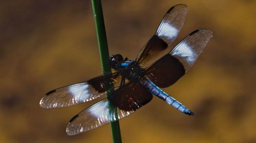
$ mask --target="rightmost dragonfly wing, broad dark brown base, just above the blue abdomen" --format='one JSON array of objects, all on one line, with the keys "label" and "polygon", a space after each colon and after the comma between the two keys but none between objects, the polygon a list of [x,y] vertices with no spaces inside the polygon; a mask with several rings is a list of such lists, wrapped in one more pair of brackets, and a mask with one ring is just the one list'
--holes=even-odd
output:
[{"label": "rightmost dragonfly wing, broad dark brown base, just above the blue abdomen", "polygon": [[194,65],[211,37],[210,30],[194,31],[172,51],[147,68],[146,76],[160,88],[169,87]]}]

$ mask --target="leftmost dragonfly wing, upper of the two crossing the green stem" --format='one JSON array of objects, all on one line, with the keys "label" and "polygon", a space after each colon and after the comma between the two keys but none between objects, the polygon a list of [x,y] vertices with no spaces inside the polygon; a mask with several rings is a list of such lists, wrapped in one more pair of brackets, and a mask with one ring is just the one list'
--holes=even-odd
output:
[{"label": "leftmost dragonfly wing, upper of the two crossing the green stem", "polygon": [[106,86],[106,81],[112,83],[114,87],[118,87],[121,75],[118,73],[101,75],[85,82],[52,90],[42,97],[39,104],[42,108],[55,108],[91,101],[105,95],[105,92],[111,89]]}]

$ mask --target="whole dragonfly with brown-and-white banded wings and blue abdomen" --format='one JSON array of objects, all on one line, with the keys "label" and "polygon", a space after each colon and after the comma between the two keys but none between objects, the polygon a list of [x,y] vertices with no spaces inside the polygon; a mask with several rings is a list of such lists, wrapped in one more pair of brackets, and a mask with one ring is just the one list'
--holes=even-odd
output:
[{"label": "whole dragonfly with brown-and-white banded wings and blue abdomen", "polygon": [[110,96],[82,110],[68,123],[68,135],[76,135],[115,122],[159,97],[177,110],[194,115],[162,88],[174,84],[195,64],[212,37],[212,32],[199,29],[172,47],[184,24],[187,6],[179,4],[164,15],[156,33],[140,50],[135,60],[121,54],[109,59],[112,73],[68,85],[48,92],[40,100],[42,108],[76,105],[94,100],[113,91]]}]

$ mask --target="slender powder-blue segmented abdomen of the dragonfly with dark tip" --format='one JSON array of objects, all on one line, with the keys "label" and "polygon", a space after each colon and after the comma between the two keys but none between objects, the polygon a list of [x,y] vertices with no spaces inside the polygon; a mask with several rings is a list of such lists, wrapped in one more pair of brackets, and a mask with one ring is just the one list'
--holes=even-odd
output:
[{"label": "slender powder-blue segmented abdomen of the dragonfly with dark tip", "polygon": [[169,105],[172,105],[177,110],[184,112],[187,115],[194,115],[194,112],[190,111],[187,107],[182,105],[179,101],[174,99],[173,97],[166,94],[163,90],[158,88],[150,79],[144,78],[140,80],[141,84],[144,85],[145,88],[148,89],[153,95],[159,97],[163,101],[167,102]]}]

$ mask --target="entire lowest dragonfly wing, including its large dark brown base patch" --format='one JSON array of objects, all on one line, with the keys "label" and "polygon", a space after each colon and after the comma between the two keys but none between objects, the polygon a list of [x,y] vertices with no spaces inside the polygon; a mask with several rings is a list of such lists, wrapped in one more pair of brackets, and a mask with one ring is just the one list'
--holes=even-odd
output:
[{"label": "entire lowest dragonfly wing, including its large dark brown base patch", "polygon": [[115,122],[129,116],[152,98],[152,94],[140,83],[129,82],[110,98],[105,98],[74,116],[67,126],[67,134],[75,135]]}]

